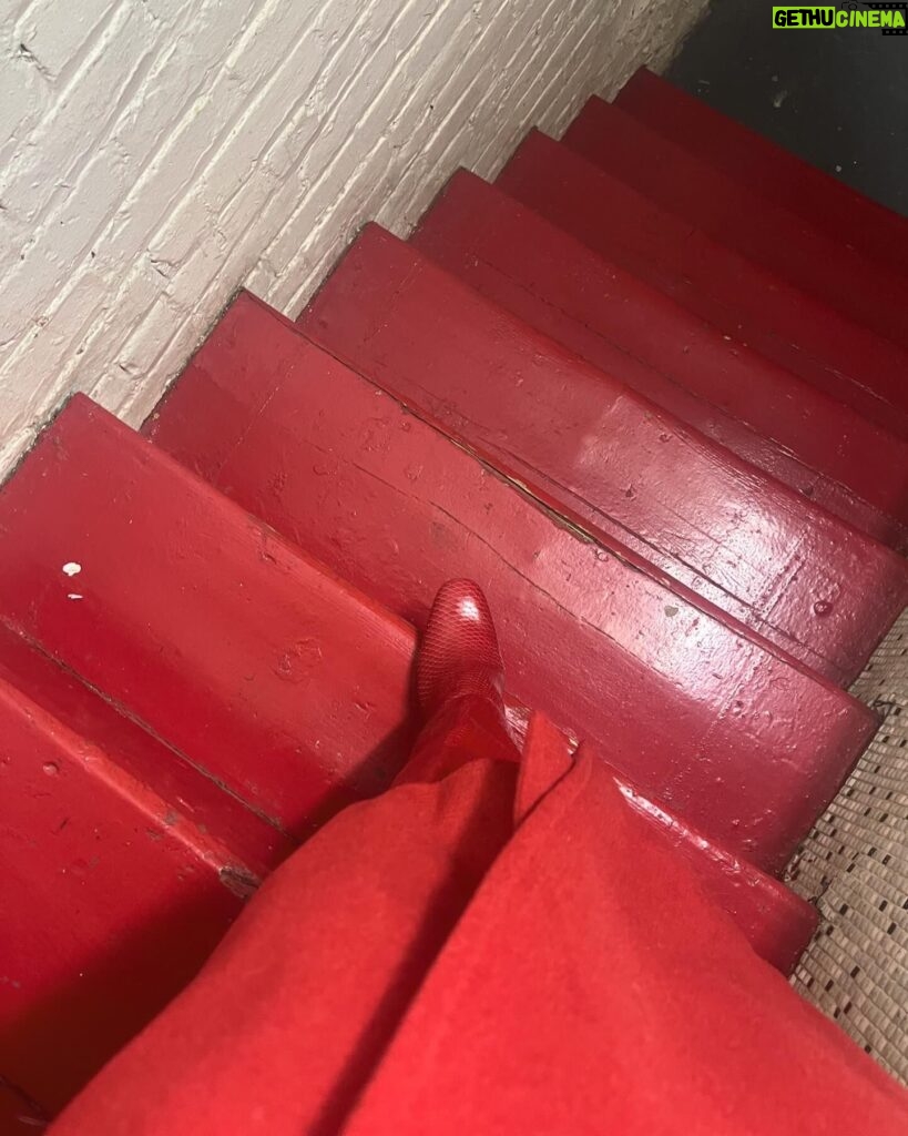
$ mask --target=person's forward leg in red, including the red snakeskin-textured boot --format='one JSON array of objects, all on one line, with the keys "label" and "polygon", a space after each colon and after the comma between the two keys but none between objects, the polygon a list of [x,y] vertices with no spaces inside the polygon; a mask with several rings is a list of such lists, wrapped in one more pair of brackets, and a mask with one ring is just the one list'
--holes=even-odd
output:
[{"label": "person's forward leg in red, including the red snakeskin-textured boot", "polygon": [[343,810],[266,880],[54,1136],[340,1130],[514,828],[519,754],[474,584],[439,593],[417,674],[426,727],[395,786]]}]

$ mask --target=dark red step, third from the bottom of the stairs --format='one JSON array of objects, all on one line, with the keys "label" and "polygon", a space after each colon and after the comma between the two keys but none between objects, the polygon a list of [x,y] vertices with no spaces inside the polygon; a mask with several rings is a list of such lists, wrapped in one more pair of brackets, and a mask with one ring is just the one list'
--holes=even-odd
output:
[{"label": "dark red step, third from the bottom of the stairs", "polygon": [[908,437],[908,352],[714,241],[569,147],[531,131],[496,179],[622,268],[732,339]]}]

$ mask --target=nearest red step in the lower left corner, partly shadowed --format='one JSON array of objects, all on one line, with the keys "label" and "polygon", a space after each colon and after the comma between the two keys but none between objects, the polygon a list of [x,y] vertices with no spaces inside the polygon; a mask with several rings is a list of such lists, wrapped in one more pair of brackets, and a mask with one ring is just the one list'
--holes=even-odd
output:
[{"label": "nearest red step in the lower left corner, partly shadowed", "polygon": [[56,1112],[291,845],[6,628],[0,730],[0,1072]]}]

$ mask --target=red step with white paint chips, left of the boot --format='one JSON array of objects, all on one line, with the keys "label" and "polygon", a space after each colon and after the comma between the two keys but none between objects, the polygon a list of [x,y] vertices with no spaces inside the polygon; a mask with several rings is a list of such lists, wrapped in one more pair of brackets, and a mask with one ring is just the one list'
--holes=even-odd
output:
[{"label": "red step with white paint chips, left of the boot", "polygon": [[294,836],[409,750],[413,629],[86,399],[0,493],[0,593],[14,626]]}]

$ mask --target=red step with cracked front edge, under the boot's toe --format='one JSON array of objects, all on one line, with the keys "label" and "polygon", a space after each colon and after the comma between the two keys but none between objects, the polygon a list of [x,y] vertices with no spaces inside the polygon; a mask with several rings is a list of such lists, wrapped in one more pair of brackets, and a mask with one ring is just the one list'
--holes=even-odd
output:
[{"label": "red step with cracked front edge, under the boot's toe", "polygon": [[513,470],[496,474],[421,417],[242,295],[150,429],[407,619],[424,618],[443,580],[476,578],[516,699],[712,838],[781,868],[872,734],[867,709],[669,591],[633,553],[591,542],[575,515],[540,508]]}]

